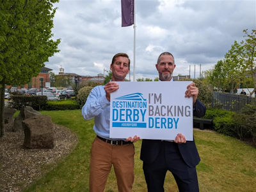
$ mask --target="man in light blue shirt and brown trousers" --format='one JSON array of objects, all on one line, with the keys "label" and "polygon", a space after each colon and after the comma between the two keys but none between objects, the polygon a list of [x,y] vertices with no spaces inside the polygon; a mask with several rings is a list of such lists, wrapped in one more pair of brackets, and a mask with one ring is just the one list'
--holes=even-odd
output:
[{"label": "man in light blue shirt and brown trousers", "polygon": [[124,81],[129,73],[130,59],[127,54],[114,55],[110,69],[111,82],[94,87],[88,96],[82,114],[84,119],[94,117],[93,130],[97,137],[92,144],[90,160],[90,191],[104,191],[108,174],[115,168],[118,191],[132,191],[134,181],[134,145],[140,137],[109,138],[110,93],[118,89],[116,81]]}]

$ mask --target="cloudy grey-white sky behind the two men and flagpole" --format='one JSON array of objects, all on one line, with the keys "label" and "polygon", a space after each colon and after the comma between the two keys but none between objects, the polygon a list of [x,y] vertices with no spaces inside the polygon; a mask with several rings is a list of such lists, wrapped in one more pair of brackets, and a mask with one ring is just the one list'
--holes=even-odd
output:
[{"label": "cloudy grey-white sky behind the two men and flagpole", "polygon": [[[121,0],[60,0],[54,17],[54,39],[60,52],[46,63],[58,74],[97,75],[109,70],[113,55],[131,58],[133,79],[134,29],[121,27]],[[135,0],[136,77],[157,77],[161,52],[172,52],[173,75],[199,76],[223,59],[243,29],[256,29],[256,1]],[[106,71],[105,71],[106,75]],[[129,77],[128,77],[129,78]]]}]

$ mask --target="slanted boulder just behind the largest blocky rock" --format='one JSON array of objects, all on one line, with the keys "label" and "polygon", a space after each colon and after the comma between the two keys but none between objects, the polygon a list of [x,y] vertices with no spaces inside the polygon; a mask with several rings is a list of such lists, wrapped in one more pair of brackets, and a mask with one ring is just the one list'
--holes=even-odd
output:
[{"label": "slanted boulder just behind the largest blocky rock", "polygon": [[41,115],[38,111],[34,110],[32,107],[23,107],[20,109],[20,114],[14,119],[13,131],[22,130],[22,121],[33,117],[35,115]]}]

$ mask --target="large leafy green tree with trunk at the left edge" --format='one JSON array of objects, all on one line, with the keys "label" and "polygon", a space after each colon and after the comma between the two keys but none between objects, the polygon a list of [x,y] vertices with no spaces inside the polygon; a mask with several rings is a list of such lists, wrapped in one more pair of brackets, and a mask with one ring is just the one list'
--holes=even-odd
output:
[{"label": "large leafy green tree with trunk at the left edge", "polygon": [[51,29],[58,0],[0,3],[0,137],[4,135],[4,85],[26,84],[55,52],[60,40]]}]

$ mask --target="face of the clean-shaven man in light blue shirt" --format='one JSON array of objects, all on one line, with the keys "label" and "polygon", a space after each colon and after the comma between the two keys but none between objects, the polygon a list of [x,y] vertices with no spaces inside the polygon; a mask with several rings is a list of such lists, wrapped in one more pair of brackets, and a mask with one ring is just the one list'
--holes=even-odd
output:
[{"label": "face of the clean-shaven man in light blue shirt", "polygon": [[127,57],[116,57],[115,62],[110,65],[113,81],[123,81],[129,73],[129,60]]}]

